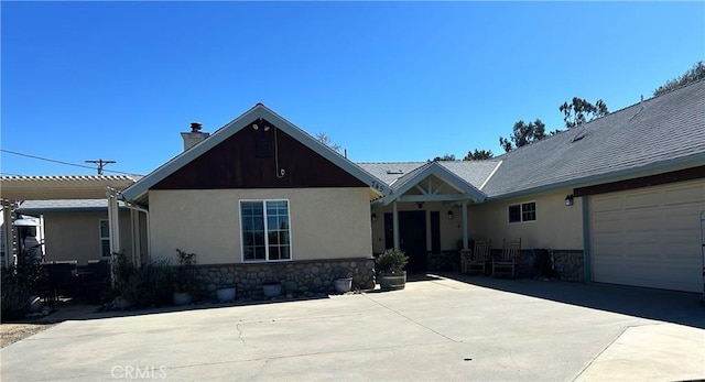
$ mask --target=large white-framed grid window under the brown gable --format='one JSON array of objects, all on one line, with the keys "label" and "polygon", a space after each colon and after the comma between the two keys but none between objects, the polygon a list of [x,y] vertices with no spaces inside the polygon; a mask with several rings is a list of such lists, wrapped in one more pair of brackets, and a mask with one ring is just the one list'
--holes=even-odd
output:
[{"label": "large white-framed grid window under the brown gable", "polygon": [[291,260],[289,200],[240,201],[242,259]]}]

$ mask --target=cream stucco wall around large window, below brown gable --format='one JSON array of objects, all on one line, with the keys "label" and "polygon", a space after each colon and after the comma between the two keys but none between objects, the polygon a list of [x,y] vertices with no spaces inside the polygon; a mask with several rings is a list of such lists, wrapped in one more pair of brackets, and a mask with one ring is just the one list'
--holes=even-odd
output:
[{"label": "cream stucco wall around large window, below brown gable", "polygon": [[151,257],[242,262],[239,201],[289,199],[292,260],[371,257],[369,188],[150,190]]}]

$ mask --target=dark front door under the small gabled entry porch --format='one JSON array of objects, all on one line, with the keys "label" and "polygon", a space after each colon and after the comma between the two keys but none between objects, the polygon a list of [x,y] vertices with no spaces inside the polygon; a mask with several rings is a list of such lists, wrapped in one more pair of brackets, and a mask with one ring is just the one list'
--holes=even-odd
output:
[{"label": "dark front door under the small gabled entry porch", "polygon": [[[392,214],[384,214],[386,244],[393,248]],[[426,211],[399,211],[399,247],[409,257],[406,271],[426,272]]]}]

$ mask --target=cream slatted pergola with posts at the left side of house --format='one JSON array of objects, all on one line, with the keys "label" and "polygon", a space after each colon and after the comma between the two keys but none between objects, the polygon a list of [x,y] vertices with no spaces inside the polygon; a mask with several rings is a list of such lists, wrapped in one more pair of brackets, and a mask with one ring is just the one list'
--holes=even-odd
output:
[{"label": "cream slatted pergola with posts at the left side of house", "polygon": [[137,182],[134,178],[123,175],[0,177],[0,199],[2,201],[6,229],[6,253],[10,257],[17,252],[15,244],[11,240],[13,237],[12,211],[18,207],[19,203],[23,200],[54,199],[107,199],[110,251],[119,252],[118,194],[134,182]]}]

